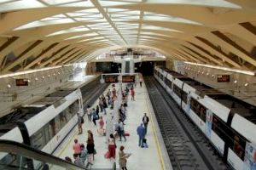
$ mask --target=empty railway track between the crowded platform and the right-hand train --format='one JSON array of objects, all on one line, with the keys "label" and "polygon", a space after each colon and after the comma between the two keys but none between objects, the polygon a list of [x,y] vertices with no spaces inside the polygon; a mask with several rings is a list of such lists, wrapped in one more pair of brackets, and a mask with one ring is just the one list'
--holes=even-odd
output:
[{"label": "empty railway track between the crowded platform and the right-hand train", "polygon": [[154,77],[144,77],[174,170],[228,170],[201,131]]}]

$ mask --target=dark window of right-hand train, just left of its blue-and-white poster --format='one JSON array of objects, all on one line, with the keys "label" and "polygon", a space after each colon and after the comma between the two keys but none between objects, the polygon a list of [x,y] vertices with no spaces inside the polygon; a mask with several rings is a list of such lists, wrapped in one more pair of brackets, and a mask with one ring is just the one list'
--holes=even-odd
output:
[{"label": "dark window of right-hand train, just left of its blue-and-white poster", "polygon": [[200,116],[202,121],[206,122],[207,108],[205,106],[201,105],[196,99],[191,98],[190,108],[197,116]]}]

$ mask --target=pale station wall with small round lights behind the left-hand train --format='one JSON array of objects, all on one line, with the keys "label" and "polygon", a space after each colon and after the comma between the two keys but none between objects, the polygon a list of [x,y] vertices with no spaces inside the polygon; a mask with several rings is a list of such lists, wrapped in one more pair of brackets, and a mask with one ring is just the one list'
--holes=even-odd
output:
[{"label": "pale station wall with small round lights behind the left-hand train", "polygon": [[[0,78],[0,117],[14,111],[19,105],[26,105],[43,98],[67,83],[73,67],[61,67],[16,77]],[[29,80],[28,86],[16,86],[16,79]]]}]

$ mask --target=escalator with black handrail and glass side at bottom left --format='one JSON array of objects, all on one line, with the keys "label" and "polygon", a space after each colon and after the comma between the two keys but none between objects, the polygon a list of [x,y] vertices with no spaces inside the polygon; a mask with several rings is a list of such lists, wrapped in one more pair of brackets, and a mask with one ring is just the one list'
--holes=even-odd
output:
[{"label": "escalator with black handrail and glass side at bottom left", "polygon": [[[9,140],[0,140],[1,170],[85,170],[73,162],[62,160],[26,144]],[[93,168],[89,168],[93,169]],[[115,169],[115,164],[111,168]]]}]

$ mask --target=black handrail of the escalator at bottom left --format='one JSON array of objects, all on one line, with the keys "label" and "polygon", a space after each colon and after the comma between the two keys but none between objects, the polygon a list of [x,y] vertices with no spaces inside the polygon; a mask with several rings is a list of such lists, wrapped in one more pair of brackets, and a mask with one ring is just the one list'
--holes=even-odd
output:
[{"label": "black handrail of the escalator at bottom left", "polygon": [[45,153],[41,150],[36,150],[26,144],[20,144],[18,142],[10,140],[0,139],[0,152],[14,153],[20,156],[26,156],[37,161],[46,162],[60,167],[66,167],[67,169],[86,169],[85,167],[80,167],[72,162],[65,161],[56,156],[49,155],[48,153]]}]

